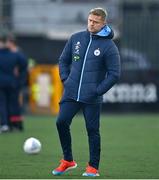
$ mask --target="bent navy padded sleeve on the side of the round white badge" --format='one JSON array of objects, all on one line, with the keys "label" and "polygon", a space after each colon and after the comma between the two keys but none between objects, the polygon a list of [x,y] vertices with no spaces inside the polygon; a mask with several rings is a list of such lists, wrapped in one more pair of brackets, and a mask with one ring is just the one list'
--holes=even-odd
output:
[{"label": "bent navy padded sleeve on the side of the round white badge", "polygon": [[107,73],[105,79],[97,87],[98,95],[106,93],[120,78],[120,55],[114,43],[111,48],[106,51],[105,65]]}]

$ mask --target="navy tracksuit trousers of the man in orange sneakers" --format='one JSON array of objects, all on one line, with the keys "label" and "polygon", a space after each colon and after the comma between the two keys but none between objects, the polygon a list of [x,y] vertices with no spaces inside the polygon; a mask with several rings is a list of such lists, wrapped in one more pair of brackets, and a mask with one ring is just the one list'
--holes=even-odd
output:
[{"label": "navy tracksuit trousers of the man in orange sneakers", "polygon": [[81,109],[85,118],[85,124],[89,142],[89,165],[98,169],[100,160],[100,108],[101,104],[86,104],[74,100],[60,103],[60,112],[57,118],[57,129],[64,154],[67,161],[73,160],[70,125],[75,114]]}]

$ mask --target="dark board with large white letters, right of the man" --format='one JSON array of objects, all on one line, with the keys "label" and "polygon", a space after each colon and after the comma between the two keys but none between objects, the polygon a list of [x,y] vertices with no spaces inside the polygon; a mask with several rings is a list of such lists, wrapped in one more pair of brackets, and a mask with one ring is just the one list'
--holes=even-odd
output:
[{"label": "dark board with large white letters, right of the man", "polygon": [[159,71],[122,71],[121,79],[103,96],[108,112],[159,112]]}]

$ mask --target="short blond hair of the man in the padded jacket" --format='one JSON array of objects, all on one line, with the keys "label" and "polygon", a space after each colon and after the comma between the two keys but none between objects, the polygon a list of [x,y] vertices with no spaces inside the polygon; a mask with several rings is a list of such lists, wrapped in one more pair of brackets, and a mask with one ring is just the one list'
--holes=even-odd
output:
[{"label": "short blond hair of the man in the padded jacket", "polygon": [[90,14],[93,14],[93,15],[96,15],[96,16],[101,16],[104,21],[106,20],[106,18],[108,16],[107,11],[105,9],[101,8],[101,7],[91,9],[90,12],[89,12],[89,15]]}]

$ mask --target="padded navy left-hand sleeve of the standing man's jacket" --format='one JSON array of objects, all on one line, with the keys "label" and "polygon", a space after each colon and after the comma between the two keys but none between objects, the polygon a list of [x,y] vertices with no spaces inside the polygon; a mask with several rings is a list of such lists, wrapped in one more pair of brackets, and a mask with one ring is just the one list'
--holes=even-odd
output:
[{"label": "padded navy left-hand sleeve of the standing man's jacket", "polygon": [[72,63],[72,37],[66,43],[63,52],[59,58],[59,71],[62,82],[64,82],[69,76],[71,63]]}]

